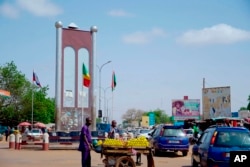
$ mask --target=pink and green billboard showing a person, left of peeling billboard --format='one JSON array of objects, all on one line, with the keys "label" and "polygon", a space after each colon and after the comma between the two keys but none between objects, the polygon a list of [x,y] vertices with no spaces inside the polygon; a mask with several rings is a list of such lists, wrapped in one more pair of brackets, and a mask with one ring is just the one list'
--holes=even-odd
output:
[{"label": "pink and green billboard showing a person, left of peeling billboard", "polygon": [[174,120],[200,119],[200,99],[172,100]]}]

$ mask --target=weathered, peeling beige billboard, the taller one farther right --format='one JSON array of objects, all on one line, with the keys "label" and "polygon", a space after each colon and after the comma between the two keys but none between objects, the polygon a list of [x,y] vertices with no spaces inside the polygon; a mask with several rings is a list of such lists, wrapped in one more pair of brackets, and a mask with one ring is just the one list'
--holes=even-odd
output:
[{"label": "weathered, peeling beige billboard, the taller one farther right", "polygon": [[230,87],[203,88],[203,118],[232,117]]}]

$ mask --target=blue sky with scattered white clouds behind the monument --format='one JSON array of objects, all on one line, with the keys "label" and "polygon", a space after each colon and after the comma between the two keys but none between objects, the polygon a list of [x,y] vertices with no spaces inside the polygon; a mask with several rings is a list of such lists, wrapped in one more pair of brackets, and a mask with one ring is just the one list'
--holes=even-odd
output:
[{"label": "blue sky with scattered white clouds behind the monument", "polygon": [[202,99],[203,78],[208,88],[230,86],[231,111],[248,104],[248,0],[0,0],[0,21],[0,65],[14,61],[28,79],[35,69],[50,97],[55,97],[55,23],[75,23],[86,31],[97,26],[96,65],[111,61],[101,72],[107,90],[102,104],[111,108],[113,102],[118,121],[128,109],[171,115],[172,99]]}]

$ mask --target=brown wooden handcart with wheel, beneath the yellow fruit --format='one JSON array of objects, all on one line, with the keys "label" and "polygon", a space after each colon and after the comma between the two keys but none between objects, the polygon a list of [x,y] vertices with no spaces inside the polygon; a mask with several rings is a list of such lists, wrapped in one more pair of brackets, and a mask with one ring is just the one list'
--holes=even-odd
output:
[{"label": "brown wooden handcart with wheel, beneath the yellow fruit", "polygon": [[151,148],[149,147],[121,147],[102,146],[101,157],[105,167],[135,167],[132,156],[147,156],[147,166],[155,167]]}]

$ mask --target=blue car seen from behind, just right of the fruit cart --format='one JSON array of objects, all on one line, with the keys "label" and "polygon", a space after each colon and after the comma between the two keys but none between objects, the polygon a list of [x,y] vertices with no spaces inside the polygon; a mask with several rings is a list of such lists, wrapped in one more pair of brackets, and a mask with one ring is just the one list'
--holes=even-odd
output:
[{"label": "blue car seen from behind, just right of the fruit cart", "polygon": [[155,156],[168,151],[180,151],[187,156],[189,151],[189,139],[181,126],[159,125],[152,132],[149,142]]}]

